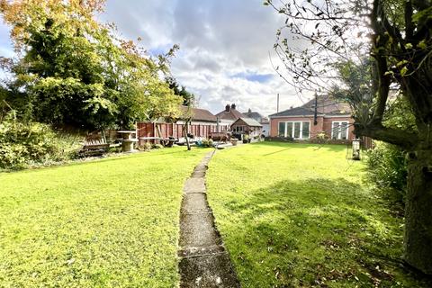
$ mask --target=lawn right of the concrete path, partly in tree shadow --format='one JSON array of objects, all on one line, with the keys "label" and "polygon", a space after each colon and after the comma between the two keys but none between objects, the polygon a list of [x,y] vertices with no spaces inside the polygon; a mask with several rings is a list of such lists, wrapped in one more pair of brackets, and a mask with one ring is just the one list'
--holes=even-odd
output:
[{"label": "lawn right of the concrete path, partly in tree shadow", "polygon": [[403,219],[346,155],[256,143],[212,158],[209,202],[243,287],[430,286],[402,266]]}]

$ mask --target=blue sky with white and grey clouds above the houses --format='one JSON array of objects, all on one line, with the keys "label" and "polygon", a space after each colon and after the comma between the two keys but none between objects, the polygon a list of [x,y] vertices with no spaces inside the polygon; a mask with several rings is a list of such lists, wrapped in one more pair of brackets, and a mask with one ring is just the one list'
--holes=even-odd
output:
[{"label": "blue sky with white and grey clouds above the houses", "polygon": [[[280,111],[308,100],[272,67],[275,32],[284,18],[262,0],[108,0],[97,17],[115,23],[125,39],[141,38],[150,55],[179,45],[171,71],[200,108],[216,113],[236,103],[240,112],[250,108],[266,116],[276,112],[276,94]],[[13,55],[1,23],[0,56]]]}]

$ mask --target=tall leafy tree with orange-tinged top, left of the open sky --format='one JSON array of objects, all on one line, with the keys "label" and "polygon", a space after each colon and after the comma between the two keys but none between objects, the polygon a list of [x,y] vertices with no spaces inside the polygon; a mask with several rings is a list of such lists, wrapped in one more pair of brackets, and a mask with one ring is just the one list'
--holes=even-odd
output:
[{"label": "tall leafy tree with orange-tinged top, left of the open sky", "polygon": [[94,20],[103,4],[0,0],[18,55],[10,65],[13,85],[25,91],[28,103],[19,108],[31,110],[35,120],[90,130],[127,128],[155,109],[172,112],[171,103],[179,103],[159,79],[174,49],[157,60],[114,37],[115,27]]}]

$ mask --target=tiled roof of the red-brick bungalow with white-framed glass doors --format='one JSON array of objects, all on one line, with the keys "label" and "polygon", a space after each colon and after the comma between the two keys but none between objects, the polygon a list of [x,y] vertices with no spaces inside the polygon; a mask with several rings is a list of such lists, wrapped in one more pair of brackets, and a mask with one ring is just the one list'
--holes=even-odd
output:
[{"label": "tiled roof of the red-brick bungalow with white-framed glass doors", "polygon": [[[275,116],[311,116],[315,112],[315,99],[304,103],[300,107],[284,110],[271,114]],[[321,116],[325,115],[346,115],[351,114],[351,109],[347,103],[335,100],[329,95],[320,95],[317,99],[317,113]]]}]

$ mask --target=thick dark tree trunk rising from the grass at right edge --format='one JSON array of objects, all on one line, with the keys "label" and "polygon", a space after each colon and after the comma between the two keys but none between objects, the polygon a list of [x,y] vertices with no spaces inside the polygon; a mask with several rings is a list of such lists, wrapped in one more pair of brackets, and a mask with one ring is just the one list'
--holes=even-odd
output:
[{"label": "thick dark tree trunk rising from the grass at right edge", "polygon": [[432,275],[432,149],[410,153],[405,212],[405,260]]}]

